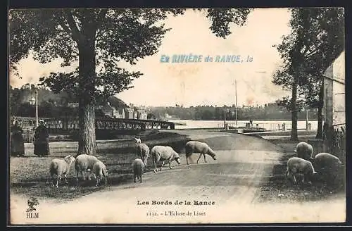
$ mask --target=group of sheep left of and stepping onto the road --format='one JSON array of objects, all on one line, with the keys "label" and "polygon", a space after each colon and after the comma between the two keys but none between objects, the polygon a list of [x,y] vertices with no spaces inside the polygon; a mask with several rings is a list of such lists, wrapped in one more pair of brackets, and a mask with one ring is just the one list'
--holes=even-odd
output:
[{"label": "group of sheep left of and stepping onto the road", "polygon": [[[172,161],[176,161],[180,164],[180,155],[172,149],[171,146],[161,146],[156,145],[150,150],[149,146],[141,142],[141,139],[134,138],[136,149],[137,149],[137,158],[132,161],[132,172],[134,182],[139,180],[142,182],[142,174],[145,172],[146,164],[148,163],[149,155],[153,160],[154,173],[158,170],[156,168],[157,163],[161,163],[162,170],[165,165],[165,161],[169,163],[169,168],[172,169],[171,163]],[[199,159],[203,155],[204,162],[206,162],[206,154],[211,156],[214,160],[216,160],[215,152],[211,149],[208,144],[204,142],[198,141],[189,141],[185,145],[186,150],[186,160],[187,165],[188,158],[193,153],[199,153],[199,158],[197,159],[197,163],[199,163]],[[91,176],[94,175],[96,178],[96,187],[101,183],[103,179],[105,184],[107,183],[108,170],[103,162],[101,162],[96,156],[90,156],[87,154],[80,154],[78,156],[73,157],[72,155],[65,156],[63,159],[53,159],[50,163],[50,175],[53,185],[58,187],[61,179],[65,179],[65,183],[67,184],[67,175],[70,171],[71,165],[75,163],[75,171],[76,171],[76,181],[78,184],[78,175],[81,173],[82,179],[85,180],[84,174],[90,172],[88,175],[88,180],[91,180]],[[55,176],[56,175],[56,179]]]}]

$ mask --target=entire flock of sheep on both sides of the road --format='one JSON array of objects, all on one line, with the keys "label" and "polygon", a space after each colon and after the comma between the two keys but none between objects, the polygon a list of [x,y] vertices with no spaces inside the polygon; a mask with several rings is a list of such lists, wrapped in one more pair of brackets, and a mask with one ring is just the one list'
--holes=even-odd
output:
[{"label": "entire flock of sheep on both sides of the road", "polygon": [[[137,158],[132,161],[134,182],[136,182],[136,178],[139,182],[142,182],[142,175],[145,173],[149,155],[153,160],[154,173],[158,171],[156,168],[157,163],[161,163],[160,171],[165,165],[165,161],[168,162],[170,169],[172,169],[172,161],[176,161],[180,164],[180,155],[177,154],[171,146],[156,145],[150,150],[149,146],[141,142],[141,139],[134,138],[134,141],[137,150]],[[204,142],[189,141],[184,148],[187,165],[189,164],[188,158],[193,153],[200,154],[197,163],[199,163],[201,156],[204,157],[204,162],[206,162],[206,154],[216,160],[215,152]],[[298,175],[302,176],[302,183],[308,182],[308,184],[311,184],[315,174],[320,173],[322,176],[333,175],[335,170],[343,166],[339,158],[332,154],[320,153],[313,156],[313,146],[306,142],[298,143],[294,151],[297,156],[291,157],[287,161],[286,173],[287,179],[291,180],[294,184],[297,183],[296,177]],[[91,175],[94,175],[96,178],[96,186],[100,184],[102,179],[104,179],[105,184],[107,183],[108,170],[104,163],[99,161],[95,156],[80,154],[76,156],[76,158],[72,155],[68,155],[63,159],[54,159],[51,161],[50,175],[54,186],[58,187],[61,178],[64,178],[67,184],[67,175],[73,163],[75,163],[77,184],[79,173],[81,173],[83,180],[85,180],[84,174],[89,171],[91,173],[89,173],[88,179],[91,180]],[[54,175],[56,175],[56,180],[54,179]]]}]

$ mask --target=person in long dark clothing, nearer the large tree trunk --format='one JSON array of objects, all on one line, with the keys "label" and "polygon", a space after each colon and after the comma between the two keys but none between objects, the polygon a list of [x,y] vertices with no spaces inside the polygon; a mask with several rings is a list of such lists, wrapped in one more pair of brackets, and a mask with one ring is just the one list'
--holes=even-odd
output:
[{"label": "person in long dark clothing, nearer the large tree trunk", "polygon": [[39,126],[34,132],[34,155],[49,155],[49,133],[44,125],[44,120],[39,120]]}]

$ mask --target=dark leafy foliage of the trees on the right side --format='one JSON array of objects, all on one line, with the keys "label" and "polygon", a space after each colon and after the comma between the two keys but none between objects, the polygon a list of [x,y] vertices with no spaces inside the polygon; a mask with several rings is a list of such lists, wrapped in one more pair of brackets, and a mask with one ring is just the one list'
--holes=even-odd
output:
[{"label": "dark leafy foliage of the trees on the right side", "polygon": [[344,49],[344,9],[292,8],[290,25],[291,33],[276,46],[284,64],[272,82],[291,89],[299,65],[298,94],[318,107],[322,74]]}]

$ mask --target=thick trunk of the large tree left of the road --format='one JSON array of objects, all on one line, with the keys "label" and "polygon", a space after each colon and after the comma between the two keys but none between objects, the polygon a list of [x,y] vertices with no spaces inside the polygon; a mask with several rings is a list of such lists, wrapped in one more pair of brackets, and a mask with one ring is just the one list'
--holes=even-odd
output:
[{"label": "thick trunk of the large tree left of the road", "polygon": [[82,24],[79,49],[80,70],[80,139],[78,154],[96,154],[95,134],[95,31]]}]

